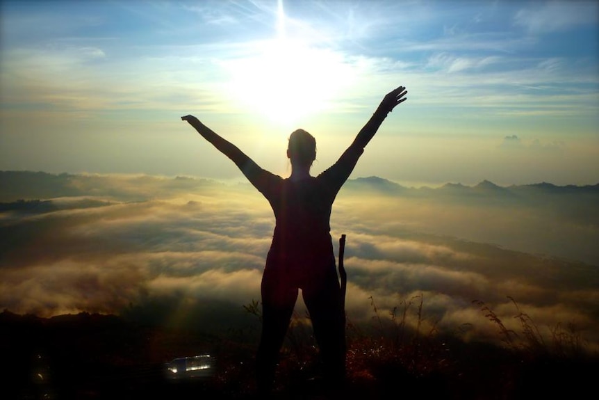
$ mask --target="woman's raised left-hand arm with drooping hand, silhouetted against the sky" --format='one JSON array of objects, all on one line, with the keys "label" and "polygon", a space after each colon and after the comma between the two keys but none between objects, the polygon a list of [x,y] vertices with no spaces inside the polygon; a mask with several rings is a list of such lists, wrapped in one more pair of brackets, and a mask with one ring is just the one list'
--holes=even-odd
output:
[{"label": "woman's raised left-hand arm with drooping hand, silhouetted against the sky", "polygon": [[[206,127],[206,125],[199,122],[193,115],[185,115],[181,117],[181,120],[189,122],[189,125],[195,128],[195,130],[206,139],[206,141],[212,143],[222,154],[229,157],[233,163],[238,166],[243,175],[249,179],[256,186],[256,179],[259,179],[259,175],[262,173],[260,168],[252,159],[238,149],[236,145],[222,138],[212,129]],[[256,186],[257,187],[257,186]]]}]

